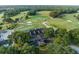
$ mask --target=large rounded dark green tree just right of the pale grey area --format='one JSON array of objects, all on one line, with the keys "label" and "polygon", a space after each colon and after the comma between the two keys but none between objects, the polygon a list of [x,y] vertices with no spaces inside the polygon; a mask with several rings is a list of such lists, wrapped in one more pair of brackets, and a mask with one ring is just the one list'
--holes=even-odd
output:
[{"label": "large rounded dark green tree just right of the pale grey area", "polygon": [[28,42],[30,38],[29,33],[24,31],[16,31],[10,36],[10,39],[17,44],[24,44]]}]

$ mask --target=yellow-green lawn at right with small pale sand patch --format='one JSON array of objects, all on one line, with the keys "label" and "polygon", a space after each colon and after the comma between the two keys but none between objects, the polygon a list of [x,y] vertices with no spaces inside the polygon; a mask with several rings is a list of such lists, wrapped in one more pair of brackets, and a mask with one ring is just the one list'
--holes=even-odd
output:
[{"label": "yellow-green lawn at right with small pale sand patch", "polygon": [[[49,23],[51,25],[56,25],[60,28],[66,28],[68,30],[79,28],[79,20],[77,20],[73,15],[76,15],[78,13],[74,14],[65,14],[65,16],[60,19],[60,18],[55,18],[52,21],[50,20]],[[70,20],[71,22],[68,22]]]}]

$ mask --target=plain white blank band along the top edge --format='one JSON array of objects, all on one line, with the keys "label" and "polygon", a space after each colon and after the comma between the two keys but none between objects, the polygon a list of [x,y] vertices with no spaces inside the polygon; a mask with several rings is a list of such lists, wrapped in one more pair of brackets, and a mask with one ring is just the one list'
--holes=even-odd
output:
[{"label": "plain white blank band along the top edge", "polygon": [[79,0],[0,0],[0,5],[79,5]]}]

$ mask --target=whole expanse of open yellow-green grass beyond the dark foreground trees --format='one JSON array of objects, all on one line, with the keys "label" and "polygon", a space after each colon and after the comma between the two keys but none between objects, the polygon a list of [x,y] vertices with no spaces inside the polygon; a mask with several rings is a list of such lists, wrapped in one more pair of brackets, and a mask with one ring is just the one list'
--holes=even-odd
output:
[{"label": "whole expanse of open yellow-green grass beyond the dark foreground trees", "polygon": [[[50,11],[41,11],[39,12],[39,15],[30,16],[29,19],[24,20],[20,23],[18,23],[17,28],[15,28],[16,31],[19,30],[29,30],[33,28],[45,28],[46,26],[43,24],[43,22],[47,22],[49,26],[56,26],[59,28],[65,28],[67,30],[79,28],[79,20],[77,20],[74,15],[77,15],[79,13],[73,13],[73,14],[65,14],[62,18],[51,18],[49,17]],[[13,19],[24,17],[25,12],[21,12],[20,14],[12,17]],[[31,25],[28,25],[28,22],[31,22]]]}]

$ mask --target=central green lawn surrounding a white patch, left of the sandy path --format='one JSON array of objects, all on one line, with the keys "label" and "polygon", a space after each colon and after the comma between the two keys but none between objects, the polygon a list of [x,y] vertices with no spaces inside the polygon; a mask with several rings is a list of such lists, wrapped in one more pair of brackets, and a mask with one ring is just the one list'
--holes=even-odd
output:
[{"label": "central green lawn surrounding a white patch, left of the sandy path", "polygon": [[[33,28],[44,28],[45,26],[42,24],[43,21],[45,21],[44,19],[48,20],[48,17],[44,17],[44,16],[31,16],[29,19],[24,20],[23,22],[19,23],[18,27],[15,28],[16,31],[23,31],[23,30],[29,30],[29,29],[33,29]],[[32,22],[32,25],[28,25],[27,22]]]}]

